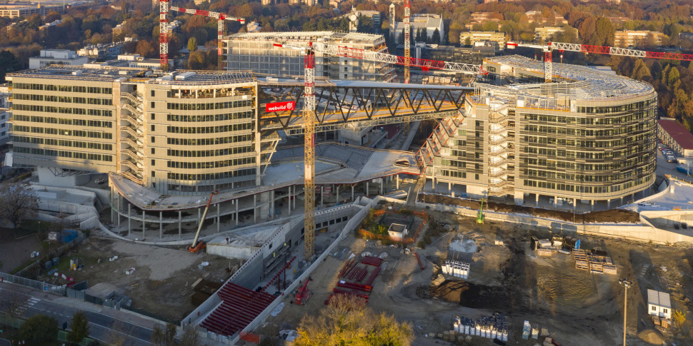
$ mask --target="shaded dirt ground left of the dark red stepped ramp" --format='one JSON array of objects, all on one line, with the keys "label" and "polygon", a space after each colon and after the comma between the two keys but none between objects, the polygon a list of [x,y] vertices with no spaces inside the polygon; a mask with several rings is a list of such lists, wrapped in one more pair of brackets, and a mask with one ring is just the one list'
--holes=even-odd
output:
[{"label": "shaded dirt ground left of the dark red stepped ramp", "polygon": [[[109,258],[118,256],[117,260]],[[81,270],[71,271],[70,258],[84,264]],[[199,265],[209,265],[199,269]],[[132,307],[171,322],[182,320],[195,306],[190,297],[198,278],[223,282],[231,268],[239,268],[239,260],[229,260],[206,253],[192,254],[184,248],[172,249],[127,243],[121,240],[91,236],[61,258],[59,273],[73,276],[76,282],[87,280],[89,287],[110,283],[132,299]],[[135,268],[126,275],[125,270]],[[44,275],[44,280],[62,285],[65,280]]]}]

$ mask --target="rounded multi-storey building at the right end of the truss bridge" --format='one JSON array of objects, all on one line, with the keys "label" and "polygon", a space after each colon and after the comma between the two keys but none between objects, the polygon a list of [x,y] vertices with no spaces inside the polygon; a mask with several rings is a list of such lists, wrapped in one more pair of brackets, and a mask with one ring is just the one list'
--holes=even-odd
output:
[{"label": "rounded multi-storey building at the right end of the truss bridge", "polygon": [[[464,115],[422,147],[429,185],[515,203],[619,200],[654,183],[657,93],[649,83],[521,56],[484,60]],[[512,83],[508,86],[507,83]]]}]

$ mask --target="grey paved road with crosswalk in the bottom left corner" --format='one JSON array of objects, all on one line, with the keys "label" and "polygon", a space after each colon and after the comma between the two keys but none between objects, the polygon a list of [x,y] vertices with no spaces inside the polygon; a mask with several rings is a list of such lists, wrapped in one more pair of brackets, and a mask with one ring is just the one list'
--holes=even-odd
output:
[{"label": "grey paved road with crosswalk in the bottom left corner", "polygon": [[[59,327],[69,322],[72,315],[81,310],[89,320],[89,337],[106,343],[114,337],[122,338],[123,345],[151,345],[151,326],[154,322],[143,320],[126,312],[112,310],[99,305],[81,302],[73,298],[52,295],[21,286],[4,283],[0,285],[0,301],[7,302],[18,297],[21,302],[19,315],[31,317],[34,315],[49,315],[58,320]],[[0,345],[2,345],[0,343]]]}]

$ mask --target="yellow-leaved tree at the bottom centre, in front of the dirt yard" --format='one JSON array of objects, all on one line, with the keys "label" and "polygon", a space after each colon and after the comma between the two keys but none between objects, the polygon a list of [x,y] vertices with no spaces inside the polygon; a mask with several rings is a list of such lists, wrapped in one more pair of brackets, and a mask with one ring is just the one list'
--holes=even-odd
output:
[{"label": "yellow-leaved tree at the bottom centre, in front of the dirt yard", "polygon": [[298,328],[298,346],[392,345],[409,346],[412,325],[390,315],[375,315],[360,297],[336,295],[318,316],[304,315]]}]

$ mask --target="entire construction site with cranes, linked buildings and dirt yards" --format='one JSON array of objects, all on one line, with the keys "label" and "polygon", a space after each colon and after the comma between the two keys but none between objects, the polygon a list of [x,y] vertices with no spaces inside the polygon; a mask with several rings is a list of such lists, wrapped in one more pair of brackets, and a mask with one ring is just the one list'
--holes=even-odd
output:
[{"label": "entire construction site with cranes, linked buildings and dirt yards", "polygon": [[[337,295],[411,322],[412,345],[612,345],[624,328],[632,345],[693,338],[693,213],[681,207],[693,187],[657,173],[654,88],[551,56],[647,52],[509,43],[544,61],[430,61],[411,58],[409,26],[404,57],[374,35],[224,42],[224,20],[244,19],[170,7],[218,20],[220,71],[169,71],[159,4],[159,70],[7,75],[8,161],[36,168],[42,218],[68,212],[91,230],[24,275],[218,345],[291,342]],[[221,71],[224,50],[229,64],[303,74]],[[342,67],[357,80],[334,78]],[[472,81],[413,84],[410,68]],[[56,97],[87,130],[54,118]],[[671,295],[674,317],[649,317],[650,289]]]}]

